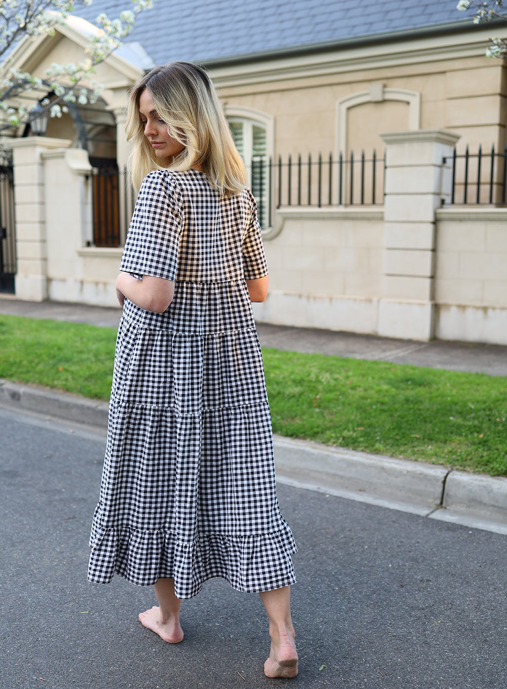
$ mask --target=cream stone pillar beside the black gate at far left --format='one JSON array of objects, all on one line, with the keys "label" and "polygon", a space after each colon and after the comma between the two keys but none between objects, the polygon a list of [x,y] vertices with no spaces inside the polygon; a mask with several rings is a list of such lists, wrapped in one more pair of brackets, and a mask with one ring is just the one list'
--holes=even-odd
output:
[{"label": "cream stone pillar beside the black gate at far left", "polygon": [[[47,299],[47,251],[44,203],[43,153],[67,148],[71,141],[27,136],[9,141],[14,161],[18,299]],[[61,189],[65,194],[65,189]]]}]

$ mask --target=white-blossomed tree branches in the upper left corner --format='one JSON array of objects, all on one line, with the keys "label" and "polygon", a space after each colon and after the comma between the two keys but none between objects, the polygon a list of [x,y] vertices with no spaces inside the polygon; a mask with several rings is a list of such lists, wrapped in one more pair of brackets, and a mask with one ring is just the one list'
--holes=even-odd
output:
[{"label": "white-blossomed tree branches in the upper left corner", "polygon": [[[150,8],[153,0],[132,0],[131,10],[117,19],[99,14],[96,32],[89,37],[85,59],[79,63],[56,64],[45,70],[43,77],[20,72],[12,66],[12,50],[25,37],[36,39],[53,35],[69,14],[79,7],[91,5],[93,0],[1,0],[0,1],[0,134],[30,122],[41,111],[50,116],[67,112],[67,103],[94,103],[101,88],[94,81],[94,68],[122,45],[131,32],[136,15]],[[51,100],[43,98],[30,106],[27,94],[52,93]],[[25,97],[23,97],[25,96]],[[33,96],[32,96],[33,101]]]}]

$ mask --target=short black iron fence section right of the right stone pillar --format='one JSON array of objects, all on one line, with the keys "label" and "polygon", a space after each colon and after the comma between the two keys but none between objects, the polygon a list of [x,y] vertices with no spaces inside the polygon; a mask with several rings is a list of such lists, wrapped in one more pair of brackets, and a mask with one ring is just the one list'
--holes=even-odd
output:
[{"label": "short black iron fence section right of the right stone pillar", "polygon": [[451,197],[449,205],[507,205],[507,145],[487,152],[479,146],[471,153],[468,146],[464,153],[454,150],[444,158],[445,165],[452,167]]}]

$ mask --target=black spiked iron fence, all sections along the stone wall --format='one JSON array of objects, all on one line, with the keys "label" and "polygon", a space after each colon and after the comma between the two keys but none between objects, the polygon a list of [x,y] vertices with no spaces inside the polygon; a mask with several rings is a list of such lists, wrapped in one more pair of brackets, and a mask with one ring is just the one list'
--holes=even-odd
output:
[{"label": "black spiked iron fence, all sections along the stone wall", "polygon": [[[99,164],[97,165],[97,163]],[[93,161],[94,245],[118,247],[125,240],[136,194],[127,172],[111,161]],[[453,152],[444,158],[452,169],[452,189],[447,205],[507,205],[507,145],[500,152],[479,146],[471,153]],[[251,167],[252,193],[257,200],[261,227],[274,221],[274,210],[286,206],[376,206],[384,203],[385,152],[366,156],[331,154],[323,157],[289,155],[257,156]],[[120,185],[122,190],[120,193]],[[125,227],[124,227],[125,225]]]}]

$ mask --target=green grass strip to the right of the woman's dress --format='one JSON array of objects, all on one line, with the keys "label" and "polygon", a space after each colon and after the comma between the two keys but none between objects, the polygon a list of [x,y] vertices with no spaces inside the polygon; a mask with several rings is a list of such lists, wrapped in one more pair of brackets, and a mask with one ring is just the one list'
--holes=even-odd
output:
[{"label": "green grass strip to the right of the woman's dress", "polygon": [[274,433],[507,475],[507,379],[265,349]]}]

